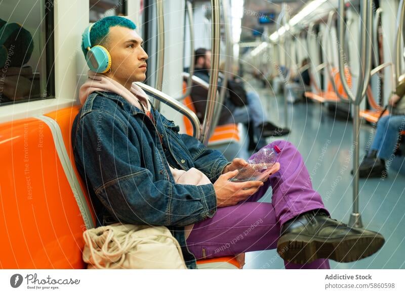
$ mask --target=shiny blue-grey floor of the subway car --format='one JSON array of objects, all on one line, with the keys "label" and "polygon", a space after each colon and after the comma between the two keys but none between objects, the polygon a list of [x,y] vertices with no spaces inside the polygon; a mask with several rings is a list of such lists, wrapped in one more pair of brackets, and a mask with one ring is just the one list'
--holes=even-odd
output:
[{"label": "shiny blue-grey floor of the subway car", "polygon": [[[270,110],[270,119],[284,125],[284,100],[259,83],[249,85],[261,95],[263,106]],[[313,187],[322,195],[332,217],[348,222],[352,204],[352,123],[334,119],[320,104],[289,105],[293,142],[305,159],[313,179]],[[360,159],[372,140],[372,128],[361,127]],[[341,172],[343,173],[340,176]],[[351,263],[331,261],[335,269],[398,269],[405,268],[405,176],[388,171],[386,179],[360,180],[360,212],[365,228],[379,231],[386,243],[376,254]],[[271,192],[264,201],[271,202]],[[245,269],[282,269],[284,263],[275,250],[246,255]]]}]

